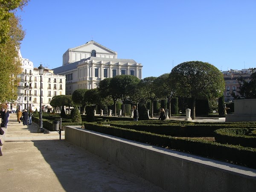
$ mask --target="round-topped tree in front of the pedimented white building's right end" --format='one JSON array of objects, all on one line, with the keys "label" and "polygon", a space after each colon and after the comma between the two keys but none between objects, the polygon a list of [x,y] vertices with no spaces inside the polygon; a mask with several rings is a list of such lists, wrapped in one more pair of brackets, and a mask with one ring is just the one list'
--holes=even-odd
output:
[{"label": "round-topped tree in front of the pedimented white building's right end", "polygon": [[125,114],[125,102],[128,100],[131,93],[134,93],[137,84],[140,79],[132,75],[120,75],[111,79],[110,87],[111,92],[115,95],[119,95],[122,100],[122,111]]}]

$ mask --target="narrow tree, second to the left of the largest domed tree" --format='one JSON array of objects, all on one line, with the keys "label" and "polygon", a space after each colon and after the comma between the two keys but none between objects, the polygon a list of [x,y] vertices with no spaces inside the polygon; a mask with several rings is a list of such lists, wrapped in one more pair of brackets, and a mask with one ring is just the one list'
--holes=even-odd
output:
[{"label": "narrow tree, second to the left of the largest domed tree", "polygon": [[153,101],[157,98],[155,94],[154,80],[156,77],[146,77],[139,82],[139,87],[143,90],[143,95],[151,101],[151,118],[154,116]]}]

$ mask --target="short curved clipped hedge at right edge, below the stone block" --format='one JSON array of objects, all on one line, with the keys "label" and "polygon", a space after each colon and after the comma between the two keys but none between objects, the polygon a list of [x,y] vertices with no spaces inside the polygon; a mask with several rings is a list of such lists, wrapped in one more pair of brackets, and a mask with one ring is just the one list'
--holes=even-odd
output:
[{"label": "short curved clipped hedge at right edge, below the stone block", "polygon": [[255,130],[255,128],[218,129],[215,131],[215,141],[218,143],[228,143],[232,145],[256,148],[256,137],[249,135]]}]

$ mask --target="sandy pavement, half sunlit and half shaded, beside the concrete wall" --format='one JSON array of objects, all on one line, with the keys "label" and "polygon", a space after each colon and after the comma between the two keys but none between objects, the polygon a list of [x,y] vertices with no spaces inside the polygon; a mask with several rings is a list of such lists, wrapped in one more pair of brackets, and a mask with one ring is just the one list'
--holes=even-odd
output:
[{"label": "sandy pavement, half sunlit and half shaded, beside the concrete wall", "polygon": [[[161,192],[152,183],[10,114],[0,157],[0,192]],[[62,132],[63,133],[63,132]]]}]

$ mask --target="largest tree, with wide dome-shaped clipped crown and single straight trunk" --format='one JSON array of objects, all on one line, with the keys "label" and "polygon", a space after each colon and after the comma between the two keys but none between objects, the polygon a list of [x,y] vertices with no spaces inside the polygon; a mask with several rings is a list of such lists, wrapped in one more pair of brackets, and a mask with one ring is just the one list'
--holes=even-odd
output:
[{"label": "largest tree, with wide dome-shaped clipped crown and single straight trunk", "polygon": [[202,61],[188,61],[174,67],[170,80],[177,86],[177,94],[192,97],[192,119],[195,119],[195,100],[223,95],[225,82],[220,70]]}]

